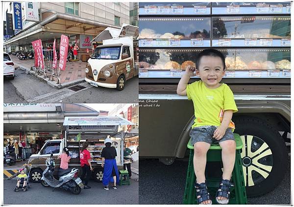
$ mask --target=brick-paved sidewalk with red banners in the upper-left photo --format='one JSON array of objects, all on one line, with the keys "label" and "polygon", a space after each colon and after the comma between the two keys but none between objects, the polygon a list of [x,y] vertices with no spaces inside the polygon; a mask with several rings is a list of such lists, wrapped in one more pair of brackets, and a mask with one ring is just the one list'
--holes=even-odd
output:
[{"label": "brick-paved sidewalk with red banners in the upper-left photo", "polygon": [[[15,65],[19,66],[22,70],[24,70],[26,73],[31,74],[33,76],[38,77],[39,79],[42,79],[46,81],[49,85],[55,88],[63,88],[67,87],[76,83],[84,82],[85,80],[85,72],[84,69],[86,67],[87,62],[67,62],[66,68],[64,71],[60,70],[60,84],[57,84],[57,79],[55,78],[54,81],[50,81],[47,77],[44,79],[43,75],[38,75],[35,73],[35,71],[30,70],[31,66],[34,66],[34,59],[27,59],[27,60],[19,60],[18,57],[14,55],[10,55],[11,60],[14,62]],[[51,61],[52,62],[52,61]],[[57,61],[57,65],[59,64],[59,61]]]}]

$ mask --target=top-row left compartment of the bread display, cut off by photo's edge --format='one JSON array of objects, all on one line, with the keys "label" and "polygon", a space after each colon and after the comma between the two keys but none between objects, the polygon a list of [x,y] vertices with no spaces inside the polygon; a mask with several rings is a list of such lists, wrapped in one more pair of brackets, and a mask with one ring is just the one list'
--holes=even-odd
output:
[{"label": "top-row left compartment of the bread display, cut off by photo's edge", "polygon": [[209,15],[209,2],[140,2],[140,15]]}]

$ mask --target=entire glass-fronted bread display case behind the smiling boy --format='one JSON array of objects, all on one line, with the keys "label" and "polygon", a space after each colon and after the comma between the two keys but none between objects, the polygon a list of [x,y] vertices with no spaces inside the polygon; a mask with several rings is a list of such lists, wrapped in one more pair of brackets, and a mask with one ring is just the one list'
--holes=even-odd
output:
[{"label": "entire glass-fronted bread display case behind the smiling boy", "polygon": [[[205,48],[224,54],[224,78],[290,78],[290,2],[268,4],[140,2],[139,78],[146,79],[142,83],[179,79]],[[158,12],[172,5],[184,9],[181,16]],[[150,6],[153,12],[147,13]],[[205,6],[212,14],[189,13],[192,6]]]}]

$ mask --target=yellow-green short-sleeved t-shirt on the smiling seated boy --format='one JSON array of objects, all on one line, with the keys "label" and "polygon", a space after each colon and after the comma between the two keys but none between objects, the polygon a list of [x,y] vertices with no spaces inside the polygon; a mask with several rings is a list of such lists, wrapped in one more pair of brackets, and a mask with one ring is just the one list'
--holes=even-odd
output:
[{"label": "yellow-green short-sleeved t-shirt on the smiling seated boy", "polygon": [[[225,83],[221,83],[218,88],[210,89],[202,81],[196,81],[188,84],[186,91],[188,100],[193,101],[195,110],[196,119],[192,128],[206,125],[219,126],[223,111],[233,110],[233,113],[238,111],[233,92]],[[234,129],[234,123],[231,122],[229,127]]]}]

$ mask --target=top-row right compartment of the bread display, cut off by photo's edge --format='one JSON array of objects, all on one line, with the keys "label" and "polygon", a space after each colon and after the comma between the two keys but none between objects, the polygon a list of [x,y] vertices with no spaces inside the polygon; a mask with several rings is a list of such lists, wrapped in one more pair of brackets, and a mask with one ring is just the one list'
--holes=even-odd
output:
[{"label": "top-row right compartment of the bread display, cut off by photo's edge", "polygon": [[212,14],[290,14],[290,2],[213,2]]}]

